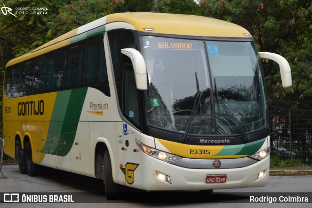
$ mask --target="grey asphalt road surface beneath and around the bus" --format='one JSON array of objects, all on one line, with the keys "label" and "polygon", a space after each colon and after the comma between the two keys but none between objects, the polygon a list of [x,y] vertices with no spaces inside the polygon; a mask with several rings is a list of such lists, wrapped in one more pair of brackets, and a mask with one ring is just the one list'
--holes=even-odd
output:
[{"label": "grey asphalt road surface beneath and around the bus", "polygon": [[[280,197],[284,195],[285,197],[289,197],[290,195],[299,196],[301,194],[300,196],[307,195],[310,200],[312,199],[311,184],[308,183],[311,181],[312,167],[274,167],[270,169],[270,175],[272,177],[270,177],[270,182],[268,183],[267,187],[237,188],[234,190],[234,192],[233,190],[220,189],[212,193],[211,197],[206,197],[205,195],[198,194],[197,192],[179,192],[178,195],[160,193],[160,195],[156,196],[154,193],[151,195],[147,192],[145,195],[142,195],[141,193],[139,196],[133,195],[134,197],[132,197],[132,195],[126,195],[127,197],[116,200],[114,202],[109,202],[107,201],[106,197],[103,197],[103,185],[100,181],[98,181],[98,179],[82,177],[77,174],[71,174],[55,169],[50,169],[50,171],[45,172],[48,177],[29,177],[27,174],[20,174],[18,165],[4,165],[2,166],[1,171],[5,177],[2,178],[0,174],[0,193],[3,192],[2,196],[0,194],[0,204],[2,203],[0,205],[1,208],[137,208],[146,207],[147,203],[154,203],[155,199],[166,199],[166,197],[170,198],[171,204],[166,204],[165,201],[161,201],[161,203],[165,203],[164,206],[167,208],[206,208],[207,206],[223,208],[229,207],[229,203],[233,205],[233,208],[263,208],[269,206],[269,203],[266,203],[268,206],[263,206],[262,204],[260,206],[260,204],[257,203],[250,203],[251,193],[253,196],[256,196],[255,194],[260,194],[262,197],[267,198],[270,194],[273,194],[272,196],[274,197]],[[44,173],[42,174],[45,175]],[[292,177],[292,175],[295,175],[295,177]],[[290,190],[293,193],[287,192]],[[23,203],[3,203],[4,197],[7,197],[8,194],[11,197],[14,195],[11,193],[14,193],[15,195],[16,193],[19,193],[19,196],[21,197],[23,197],[26,193],[26,195],[29,195],[30,198],[24,198],[26,199],[25,203],[24,201],[22,201]],[[187,194],[187,197],[185,197],[185,194]],[[35,198],[31,198],[33,195],[34,197],[37,195],[46,195],[49,200],[51,199],[50,196],[52,195],[54,197],[52,200],[53,203],[36,204],[33,201]],[[65,199],[65,196],[72,196],[72,199],[75,201],[75,203],[65,203],[65,201],[58,201],[61,197]],[[57,199],[55,197],[57,197]],[[63,198],[61,199],[63,200]],[[7,198],[5,199],[7,200]],[[21,199],[23,200],[23,198]],[[189,201],[187,201],[185,204],[180,201],[181,199]],[[309,203],[296,204],[295,207],[311,208],[310,200]],[[285,203],[281,203],[275,204],[274,207],[279,206],[280,208],[291,208],[293,205],[294,204],[289,204],[288,206],[287,204],[285,205]],[[153,205],[152,207],[155,206]]]}]

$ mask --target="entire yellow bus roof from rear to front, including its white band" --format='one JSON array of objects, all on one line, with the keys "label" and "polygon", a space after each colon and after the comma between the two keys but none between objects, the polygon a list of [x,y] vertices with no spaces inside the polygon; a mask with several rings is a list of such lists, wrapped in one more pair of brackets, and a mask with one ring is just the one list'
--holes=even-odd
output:
[{"label": "entire yellow bus roof from rear to front, including its white band", "polygon": [[[199,37],[251,38],[250,33],[243,27],[231,22],[209,17],[151,12],[116,13],[107,15],[67,32],[58,38],[39,46],[30,53],[9,61],[6,66],[28,60],[98,33],[102,33],[105,31],[105,24],[114,22],[126,22],[132,25],[137,31],[149,33]],[[88,31],[91,30],[92,32],[89,32],[88,34]]]}]

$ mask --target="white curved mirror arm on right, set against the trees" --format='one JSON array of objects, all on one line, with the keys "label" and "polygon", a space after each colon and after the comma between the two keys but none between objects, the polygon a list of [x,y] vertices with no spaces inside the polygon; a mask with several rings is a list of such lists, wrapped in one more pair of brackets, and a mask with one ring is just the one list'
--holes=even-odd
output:
[{"label": "white curved mirror arm on right, set against the trees", "polygon": [[279,70],[281,73],[282,85],[283,87],[290,87],[292,86],[292,72],[291,66],[287,62],[287,60],[275,53],[269,52],[259,52],[259,56],[261,59],[272,60],[277,62],[279,65]]}]

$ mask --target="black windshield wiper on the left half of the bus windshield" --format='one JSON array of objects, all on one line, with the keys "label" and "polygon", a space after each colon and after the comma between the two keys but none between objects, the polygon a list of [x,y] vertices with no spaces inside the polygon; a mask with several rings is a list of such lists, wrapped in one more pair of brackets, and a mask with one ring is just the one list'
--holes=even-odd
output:
[{"label": "black windshield wiper on the left half of the bus windshield", "polygon": [[188,121],[188,124],[187,124],[187,126],[186,126],[184,135],[183,135],[183,137],[182,137],[182,142],[187,142],[187,141],[189,141],[190,131],[191,131],[191,128],[192,128],[193,123],[194,123],[195,114],[196,114],[196,112],[197,112],[198,106],[200,105],[201,92],[200,92],[200,90],[199,90],[199,83],[198,83],[197,73],[196,73],[196,72],[195,72],[195,78],[196,78],[196,91],[197,91],[197,92],[196,92],[196,97],[195,97],[195,102],[194,102],[194,105],[193,105],[191,118],[190,118],[190,120]]}]

